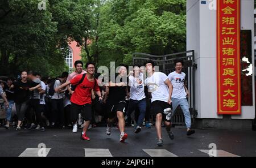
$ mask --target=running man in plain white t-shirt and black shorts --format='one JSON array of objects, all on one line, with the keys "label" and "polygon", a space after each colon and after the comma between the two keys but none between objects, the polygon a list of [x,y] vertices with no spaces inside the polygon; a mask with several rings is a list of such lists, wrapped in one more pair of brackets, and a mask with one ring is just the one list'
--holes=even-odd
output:
[{"label": "running man in plain white t-shirt and black shorts", "polygon": [[166,125],[166,131],[170,139],[174,139],[174,134],[171,131],[171,96],[172,84],[167,75],[162,72],[154,72],[154,62],[146,63],[147,79],[144,84],[147,85],[148,92],[151,92],[151,108],[156,114],[155,128],[158,136],[158,147],[163,145],[162,139],[162,119]]}]

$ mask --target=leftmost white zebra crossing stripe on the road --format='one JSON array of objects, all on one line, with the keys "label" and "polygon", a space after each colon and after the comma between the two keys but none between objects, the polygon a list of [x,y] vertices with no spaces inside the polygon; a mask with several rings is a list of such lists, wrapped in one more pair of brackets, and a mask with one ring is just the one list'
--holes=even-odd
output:
[{"label": "leftmost white zebra crossing stripe on the road", "polygon": [[27,148],[19,157],[46,157],[51,148]]}]

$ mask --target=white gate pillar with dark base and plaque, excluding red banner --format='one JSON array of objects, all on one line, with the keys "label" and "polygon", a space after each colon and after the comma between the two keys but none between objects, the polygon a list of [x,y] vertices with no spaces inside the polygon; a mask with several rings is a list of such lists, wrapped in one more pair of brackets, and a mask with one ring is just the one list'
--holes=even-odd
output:
[{"label": "white gate pillar with dark base and plaque, excluding red banner", "polygon": [[[195,100],[198,115],[196,127],[201,128],[249,128],[255,119],[255,18],[253,0],[220,0],[224,3],[240,3],[241,45],[246,45],[246,56],[241,56],[241,114],[218,113],[217,81],[217,1],[187,1],[187,50],[195,50]],[[223,20],[222,20],[223,23]],[[221,31],[221,30],[220,30]],[[223,29],[222,29],[223,34]],[[246,40],[242,41],[246,35]],[[254,44],[254,45],[253,45]],[[236,48],[236,50],[243,48]],[[240,97],[239,97],[240,98]]]}]

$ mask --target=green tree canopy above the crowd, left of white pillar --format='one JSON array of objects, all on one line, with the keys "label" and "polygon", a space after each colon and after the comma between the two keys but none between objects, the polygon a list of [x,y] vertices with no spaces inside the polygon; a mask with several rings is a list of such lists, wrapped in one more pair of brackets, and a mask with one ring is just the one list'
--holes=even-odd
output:
[{"label": "green tree canopy above the crowd, left of white pillar", "polygon": [[3,0],[0,29],[0,76],[20,70],[56,76],[68,70],[73,40],[82,59],[97,66],[130,64],[134,52],[184,51],[185,0]]}]

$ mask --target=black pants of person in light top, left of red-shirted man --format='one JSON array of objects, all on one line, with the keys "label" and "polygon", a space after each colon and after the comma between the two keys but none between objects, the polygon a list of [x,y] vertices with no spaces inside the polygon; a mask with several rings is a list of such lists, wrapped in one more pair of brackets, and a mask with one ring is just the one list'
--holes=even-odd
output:
[{"label": "black pants of person in light top, left of red-shirted man", "polygon": [[64,104],[63,104],[63,98],[52,99],[51,100],[51,105],[52,105],[51,122],[52,123],[58,122],[61,127],[64,126]]}]

